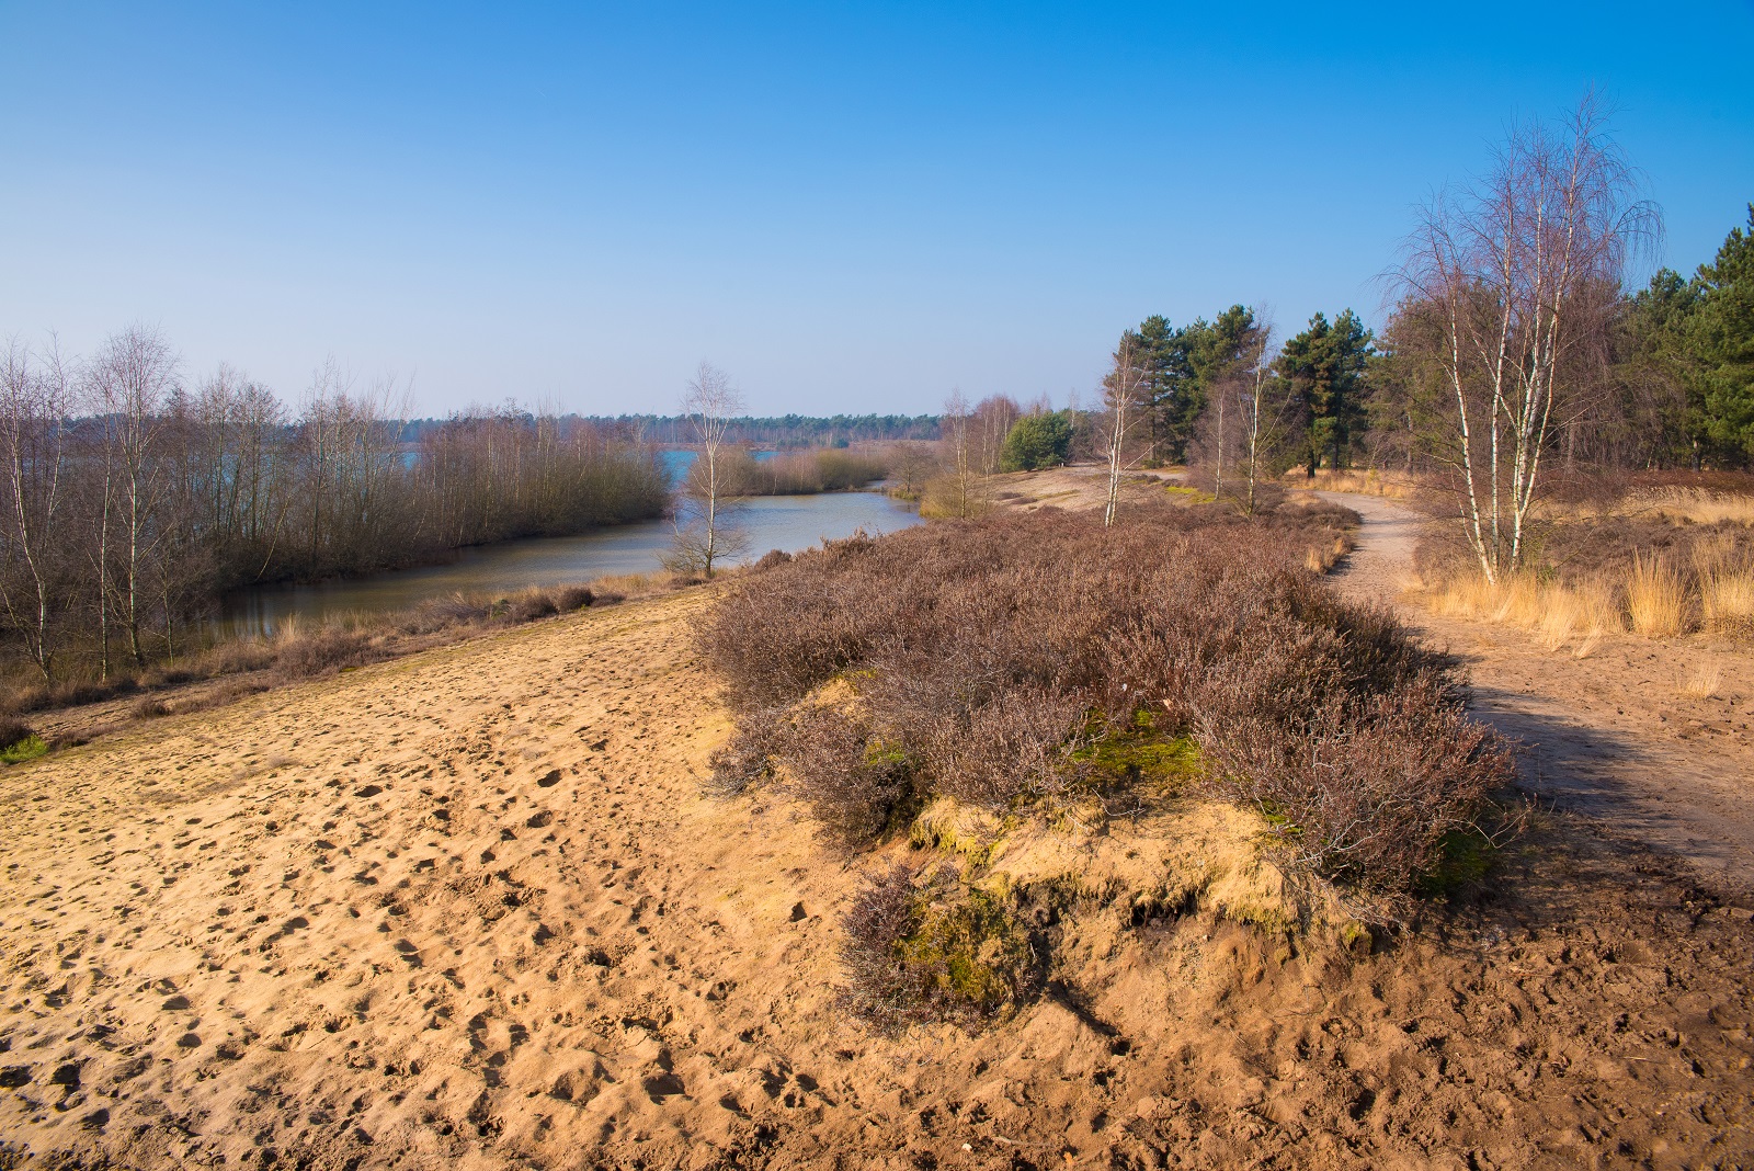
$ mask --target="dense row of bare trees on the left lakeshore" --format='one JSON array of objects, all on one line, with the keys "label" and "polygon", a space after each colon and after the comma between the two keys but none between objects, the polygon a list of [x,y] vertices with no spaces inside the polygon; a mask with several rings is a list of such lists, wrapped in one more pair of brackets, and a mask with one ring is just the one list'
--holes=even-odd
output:
[{"label": "dense row of bare trees on the left lakeshore", "polygon": [[177,652],[239,586],[656,517],[654,449],[503,407],[405,438],[398,394],[321,370],[296,414],[133,328],[74,359],[0,349],[0,629],[46,680]]}]

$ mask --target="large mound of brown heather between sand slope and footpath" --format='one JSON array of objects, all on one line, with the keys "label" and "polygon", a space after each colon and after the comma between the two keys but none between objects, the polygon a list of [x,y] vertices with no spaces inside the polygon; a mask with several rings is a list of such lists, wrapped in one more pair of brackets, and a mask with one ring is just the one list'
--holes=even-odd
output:
[{"label": "large mound of brown heather between sand slope and footpath", "polygon": [[1296,857],[1403,894],[1508,763],[1440,661],[1301,566],[1352,521],[1158,505],[1103,529],[1044,510],[800,554],[698,628],[737,717],[716,787],[779,777],[856,847],[937,794],[1077,798],[1086,749],[1149,715]]}]

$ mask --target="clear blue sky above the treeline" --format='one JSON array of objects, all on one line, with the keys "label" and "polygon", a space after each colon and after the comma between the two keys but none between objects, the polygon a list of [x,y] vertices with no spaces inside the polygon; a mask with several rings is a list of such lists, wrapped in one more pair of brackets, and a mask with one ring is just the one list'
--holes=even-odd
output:
[{"label": "clear blue sky above the treeline", "polygon": [[[1412,205],[1594,84],[1707,259],[1754,4],[0,0],[0,337],[158,324],[296,400],[758,412],[1089,394],[1123,326],[1352,305]],[[1412,14],[1417,11],[1417,14]]]}]

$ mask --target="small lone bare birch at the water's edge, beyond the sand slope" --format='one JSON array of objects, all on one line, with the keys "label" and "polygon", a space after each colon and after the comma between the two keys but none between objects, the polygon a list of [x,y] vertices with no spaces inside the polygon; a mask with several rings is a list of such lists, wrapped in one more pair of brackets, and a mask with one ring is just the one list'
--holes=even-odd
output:
[{"label": "small lone bare birch at the water's edge, beyond the sand slope", "polygon": [[712,577],[716,564],[749,552],[749,535],[733,517],[740,486],[733,482],[733,449],[724,438],[731,417],[744,410],[731,377],[712,363],[700,363],[682,393],[682,414],[693,426],[698,454],[682,484],[684,505],[677,508],[675,538],[663,559],[674,573]]}]

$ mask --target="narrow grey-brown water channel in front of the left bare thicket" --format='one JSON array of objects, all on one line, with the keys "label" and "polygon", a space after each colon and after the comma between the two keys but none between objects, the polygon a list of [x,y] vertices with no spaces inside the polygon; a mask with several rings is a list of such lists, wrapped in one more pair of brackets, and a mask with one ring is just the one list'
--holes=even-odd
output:
[{"label": "narrow grey-brown water channel in front of the left bare thicket", "polygon": [[[840,540],[856,529],[893,533],[919,524],[912,505],[881,493],[824,493],[821,496],[756,496],[745,501],[738,522],[749,533],[749,550],[798,552],[821,540]],[[651,573],[668,550],[668,521],[642,521],[584,533],[505,542],[465,549],[456,561],[421,570],[374,573],[319,586],[268,586],[226,600],[217,621],[223,636],[267,635],[288,615],[321,622],[349,612],[405,610],[426,598],[456,591],[510,593],[524,586],[586,582],[610,573]]]}]

